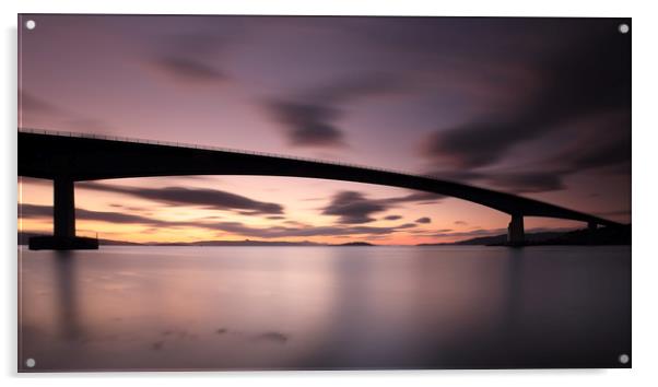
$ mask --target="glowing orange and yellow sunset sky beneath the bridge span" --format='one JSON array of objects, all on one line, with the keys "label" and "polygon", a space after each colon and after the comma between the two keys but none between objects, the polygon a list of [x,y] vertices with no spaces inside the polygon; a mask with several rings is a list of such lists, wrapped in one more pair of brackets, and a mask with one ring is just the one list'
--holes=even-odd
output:
[{"label": "glowing orange and yellow sunset sky beneath the bridge span", "polygon": [[[183,206],[149,200],[131,195],[75,189],[75,207],[79,212],[77,233],[81,236],[132,242],[132,243],[191,243],[200,241],[263,241],[312,242],[343,244],[368,242],[376,245],[418,245],[451,243],[478,236],[505,233],[508,215],[459,199],[444,198],[434,203],[403,202],[372,214],[373,220],[363,224],[341,224],[337,216],[322,214],[322,208],[339,191],[359,191],[368,200],[386,200],[409,195],[398,188],[366,184],[285,177],[221,176],[195,179],[190,177],[136,178],[107,180],[121,187],[164,188],[185,186],[198,189],[215,189],[248,197],[262,202],[281,203],[280,215],[244,214],[232,209],[212,209],[203,206]],[[49,207],[52,189],[47,180],[22,179],[20,202],[26,206]],[[102,219],[80,219],[80,211],[137,216],[130,223]],[[21,216],[21,212],[19,213]],[[272,218],[273,216],[273,218]],[[399,219],[387,220],[387,216]],[[430,218],[430,223],[418,223]],[[143,219],[144,221],[141,221]],[[413,226],[409,226],[413,224]],[[23,216],[21,231],[49,234],[51,216]],[[226,226],[227,225],[227,226]],[[237,226],[236,226],[237,225]],[[577,222],[550,219],[527,219],[526,228],[581,227]],[[232,231],[243,227],[246,232]],[[346,235],[334,235],[341,227],[354,230]],[[364,227],[365,231],[362,231]],[[372,228],[395,228],[390,232],[368,232]],[[227,230],[223,230],[227,228]],[[318,228],[318,232],[314,232]],[[291,235],[270,235],[270,231],[285,231]],[[304,235],[293,235],[303,230]],[[322,234],[321,230],[328,230]],[[489,234],[487,234],[489,233]],[[316,235],[317,234],[317,235]],[[267,236],[266,236],[267,235]]]}]

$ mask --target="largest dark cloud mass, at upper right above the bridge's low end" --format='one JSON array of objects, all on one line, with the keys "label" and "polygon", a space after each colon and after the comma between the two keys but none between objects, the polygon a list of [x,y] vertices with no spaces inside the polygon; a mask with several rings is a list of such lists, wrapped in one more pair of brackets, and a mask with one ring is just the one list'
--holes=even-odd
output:
[{"label": "largest dark cloud mass, at upper right above the bridge's low end", "polygon": [[[560,52],[539,56],[539,61],[530,61],[528,68],[536,72],[541,84],[532,89],[524,103],[462,125],[440,128],[423,139],[420,153],[443,168],[446,164],[459,168],[463,180],[485,179],[516,192],[562,189],[565,174],[627,161],[630,40],[612,27],[608,23],[597,24],[584,36],[565,45]],[[620,113],[622,119],[614,120],[614,126],[609,124],[607,130],[599,128],[598,141],[568,146],[574,141],[573,133],[580,131],[580,128],[573,128],[574,124],[587,117],[600,120],[611,112]],[[485,174],[477,171],[495,167],[517,145],[565,127],[569,127],[571,138],[565,136],[564,141],[550,142],[554,146],[553,153],[559,154],[551,160],[553,164],[544,163],[541,169],[536,171],[497,174],[496,171]],[[628,141],[607,141],[619,133],[627,137]],[[542,145],[548,144],[544,142]]]}]

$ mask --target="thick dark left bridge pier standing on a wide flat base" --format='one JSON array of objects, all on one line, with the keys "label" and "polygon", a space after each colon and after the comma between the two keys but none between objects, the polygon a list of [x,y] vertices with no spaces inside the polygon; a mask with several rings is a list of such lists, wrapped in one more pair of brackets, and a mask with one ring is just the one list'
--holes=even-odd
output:
[{"label": "thick dark left bridge pier standing on a wide flat base", "polygon": [[97,249],[98,239],[75,236],[75,189],[68,177],[52,179],[54,235],[30,238],[31,250]]}]

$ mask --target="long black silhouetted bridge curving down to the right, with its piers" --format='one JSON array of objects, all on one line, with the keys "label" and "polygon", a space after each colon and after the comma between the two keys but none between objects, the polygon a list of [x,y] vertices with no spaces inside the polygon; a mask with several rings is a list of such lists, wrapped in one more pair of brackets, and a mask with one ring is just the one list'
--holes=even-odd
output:
[{"label": "long black silhouetted bridge curving down to the right, with its piers", "polygon": [[74,183],[154,176],[251,175],[322,178],[408,188],[455,197],[510,215],[509,245],[525,243],[524,218],[580,221],[590,228],[621,223],[543,201],[396,171],[345,163],[237,151],[174,142],[19,129],[19,176],[54,184],[54,235],[33,237],[31,248],[97,248],[97,241],[75,236]]}]

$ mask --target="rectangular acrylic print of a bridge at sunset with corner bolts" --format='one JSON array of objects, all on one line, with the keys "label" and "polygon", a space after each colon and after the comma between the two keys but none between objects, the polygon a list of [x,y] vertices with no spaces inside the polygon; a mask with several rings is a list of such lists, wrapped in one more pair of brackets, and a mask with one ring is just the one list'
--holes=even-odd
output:
[{"label": "rectangular acrylic print of a bridge at sunset with corner bolts", "polygon": [[631,20],[19,31],[21,372],[631,366]]}]

